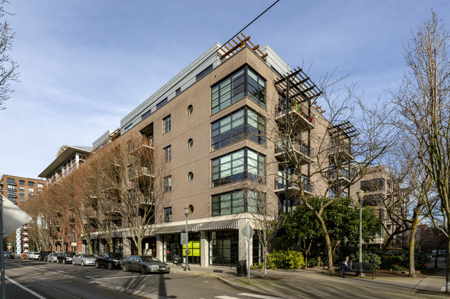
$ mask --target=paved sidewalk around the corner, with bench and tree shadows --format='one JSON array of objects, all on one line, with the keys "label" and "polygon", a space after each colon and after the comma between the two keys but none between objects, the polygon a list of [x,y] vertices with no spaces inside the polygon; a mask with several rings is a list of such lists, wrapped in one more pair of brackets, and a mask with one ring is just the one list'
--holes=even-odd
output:
[{"label": "paved sidewalk around the corner, with bench and tree shadows", "polygon": [[172,273],[215,277],[222,282],[246,292],[278,298],[450,298],[444,294],[445,270],[426,278],[371,277],[346,278],[325,273],[324,270],[251,270],[250,284],[247,276],[237,276],[231,267],[199,267],[171,265]]}]

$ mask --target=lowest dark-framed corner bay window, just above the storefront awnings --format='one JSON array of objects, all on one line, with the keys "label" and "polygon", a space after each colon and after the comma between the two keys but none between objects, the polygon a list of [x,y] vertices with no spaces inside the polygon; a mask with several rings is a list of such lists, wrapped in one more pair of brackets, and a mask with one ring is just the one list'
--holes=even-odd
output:
[{"label": "lowest dark-framed corner bay window, just above the storefront awnings", "polygon": [[213,216],[264,211],[264,195],[253,190],[236,190],[211,197]]}]

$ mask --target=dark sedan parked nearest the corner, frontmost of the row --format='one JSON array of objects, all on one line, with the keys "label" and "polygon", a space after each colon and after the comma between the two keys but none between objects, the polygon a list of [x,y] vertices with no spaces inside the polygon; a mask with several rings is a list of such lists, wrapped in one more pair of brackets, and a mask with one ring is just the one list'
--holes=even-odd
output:
[{"label": "dark sedan parked nearest the corner, frontmost of the row", "polygon": [[169,273],[170,266],[151,255],[132,255],[120,262],[124,272],[141,271],[141,273]]}]

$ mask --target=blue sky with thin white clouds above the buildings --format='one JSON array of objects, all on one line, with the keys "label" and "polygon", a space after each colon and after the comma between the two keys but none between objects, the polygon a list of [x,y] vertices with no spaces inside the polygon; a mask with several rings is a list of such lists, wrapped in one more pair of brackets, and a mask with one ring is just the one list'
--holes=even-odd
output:
[{"label": "blue sky with thin white clouds above the buildings", "polygon": [[[37,177],[62,144],[91,146],[273,1],[11,1],[20,82],[0,110],[0,173]],[[312,64],[313,81],[338,66],[370,102],[402,79],[431,8],[449,30],[450,1],[281,0],[244,33],[292,68]]]}]

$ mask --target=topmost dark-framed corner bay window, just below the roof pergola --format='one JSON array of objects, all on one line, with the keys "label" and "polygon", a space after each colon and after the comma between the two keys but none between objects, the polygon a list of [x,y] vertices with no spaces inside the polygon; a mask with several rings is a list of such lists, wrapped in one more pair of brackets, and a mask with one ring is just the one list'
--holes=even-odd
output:
[{"label": "topmost dark-framed corner bay window, just below the roof pergola", "polygon": [[266,106],[265,80],[248,66],[226,77],[211,88],[211,110],[214,113],[247,96],[258,105]]}]

